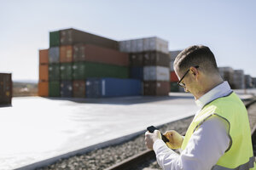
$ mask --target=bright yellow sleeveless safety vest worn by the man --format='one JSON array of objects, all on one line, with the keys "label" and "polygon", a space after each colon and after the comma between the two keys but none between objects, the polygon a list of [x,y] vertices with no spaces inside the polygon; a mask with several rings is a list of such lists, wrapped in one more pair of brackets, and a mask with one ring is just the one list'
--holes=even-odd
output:
[{"label": "bright yellow sleeveless safety vest worn by the man", "polygon": [[189,139],[198,127],[213,115],[219,116],[228,122],[230,147],[218,159],[212,170],[256,169],[247,109],[235,93],[214,99],[201,109],[200,113],[194,117],[193,122],[189,125],[189,129],[183,139],[182,149],[186,148]]}]

